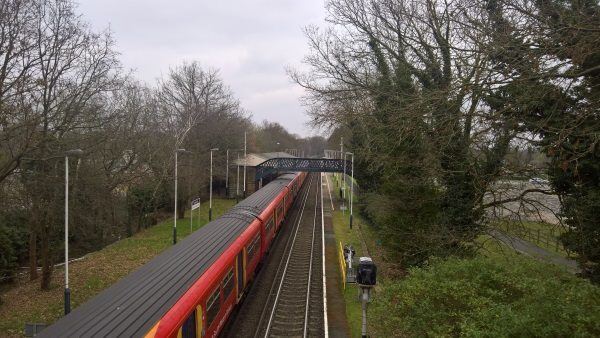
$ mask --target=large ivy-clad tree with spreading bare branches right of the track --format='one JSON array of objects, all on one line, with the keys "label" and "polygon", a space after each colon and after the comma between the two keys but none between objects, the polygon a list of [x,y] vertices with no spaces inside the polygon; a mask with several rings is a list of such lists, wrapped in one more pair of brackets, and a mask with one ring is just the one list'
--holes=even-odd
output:
[{"label": "large ivy-clad tree with spreading bare branches right of the track", "polygon": [[[309,90],[314,123],[352,131],[373,189],[406,191],[405,200],[390,196],[401,202],[389,223],[412,232],[401,210],[419,215],[436,205],[423,223],[442,246],[462,248],[481,233],[490,203],[503,203],[484,197],[525,136],[519,108],[501,99],[499,88],[518,77],[493,52],[504,46],[490,30],[502,26],[486,1],[332,0],[327,8],[331,27],[306,30],[311,71],[290,72]],[[410,198],[415,191],[429,197]]]}]

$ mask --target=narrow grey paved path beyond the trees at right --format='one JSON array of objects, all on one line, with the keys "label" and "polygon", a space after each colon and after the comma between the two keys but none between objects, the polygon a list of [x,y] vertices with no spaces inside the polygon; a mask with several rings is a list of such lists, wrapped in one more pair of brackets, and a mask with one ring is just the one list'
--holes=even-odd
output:
[{"label": "narrow grey paved path beyond the trees at right", "polygon": [[501,241],[502,243],[506,244],[507,246],[513,248],[517,252],[520,252],[522,254],[529,255],[534,258],[541,259],[541,260],[544,260],[546,262],[550,262],[550,263],[553,263],[556,265],[562,265],[562,266],[566,267],[570,272],[573,272],[573,273],[577,273],[580,271],[579,267],[577,266],[576,261],[559,256],[558,254],[555,254],[546,249],[540,248],[539,246],[537,246],[535,244],[532,244],[532,243],[522,240],[518,237],[507,234],[506,232],[504,232],[502,230],[492,228],[492,229],[488,230],[488,233],[490,236]]}]

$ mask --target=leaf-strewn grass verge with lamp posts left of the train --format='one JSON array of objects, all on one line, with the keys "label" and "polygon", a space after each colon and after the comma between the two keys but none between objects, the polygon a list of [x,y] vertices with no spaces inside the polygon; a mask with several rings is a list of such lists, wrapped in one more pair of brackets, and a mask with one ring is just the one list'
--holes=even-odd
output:
[{"label": "leaf-strewn grass verge with lamp posts left of the train", "polygon": [[[214,218],[235,204],[235,200],[213,200]],[[189,211],[177,221],[177,237],[190,234]],[[194,212],[194,230],[208,223],[208,203]],[[173,242],[173,219],[165,220],[132,237],[115,242],[102,250],[88,254],[69,265],[69,286],[72,308],[84,303],[100,291],[142,266],[170,247]],[[63,314],[64,270],[56,269],[51,289],[41,291],[39,280],[20,280],[4,292],[0,305],[0,336],[23,335],[25,323],[51,324]]]}]

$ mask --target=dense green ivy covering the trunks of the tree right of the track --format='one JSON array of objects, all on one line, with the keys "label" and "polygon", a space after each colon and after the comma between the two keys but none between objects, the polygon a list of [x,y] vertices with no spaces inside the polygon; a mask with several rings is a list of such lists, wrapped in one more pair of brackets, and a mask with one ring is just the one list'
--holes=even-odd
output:
[{"label": "dense green ivy covering the trunks of the tree right of the track", "polygon": [[[374,109],[362,121],[348,123],[351,148],[358,154],[358,179],[370,192],[365,214],[406,266],[421,264],[430,255],[470,253],[464,243],[480,232],[481,212],[475,206],[481,196],[470,170],[469,144],[460,124],[448,122],[458,121],[447,116],[456,107],[420,102],[422,93],[408,62],[402,56],[388,61],[375,40],[369,48],[377,70],[369,93]],[[423,116],[432,109],[434,116],[443,116],[430,125]],[[506,149],[494,150],[492,161],[500,163]]]}]

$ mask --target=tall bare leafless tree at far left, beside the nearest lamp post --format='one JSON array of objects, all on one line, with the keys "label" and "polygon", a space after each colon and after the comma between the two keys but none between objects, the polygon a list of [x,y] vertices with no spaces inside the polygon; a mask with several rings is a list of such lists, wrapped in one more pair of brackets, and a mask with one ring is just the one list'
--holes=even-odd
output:
[{"label": "tall bare leafless tree at far left, beside the nearest lamp post", "polygon": [[61,169],[56,161],[47,159],[67,149],[75,134],[97,128],[107,118],[94,110],[93,101],[117,84],[114,70],[118,62],[110,35],[89,31],[74,13],[73,2],[22,3],[27,5],[23,9],[28,20],[26,41],[31,41],[31,46],[23,52],[23,60],[32,61],[25,63],[26,67],[19,72],[26,74],[19,82],[22,87],[15,91],[22,108],[17,110],[20,114],[12,115],[10,125],[4,129],[18,130],[19,134],[3,135],[11,140],[8,152],[12,155],[2,175],[6,177],[24,157],[27,161],[38,161],[23,172],[25,186],[32,196],[30,268],[31,276],[35,277],[35,246],[39,235],[42,288],[48,288],[52,266],[50,233],[58,222],[58,215],[50,211],[48,203],[60,194],[49,177],[57,176]]}]

